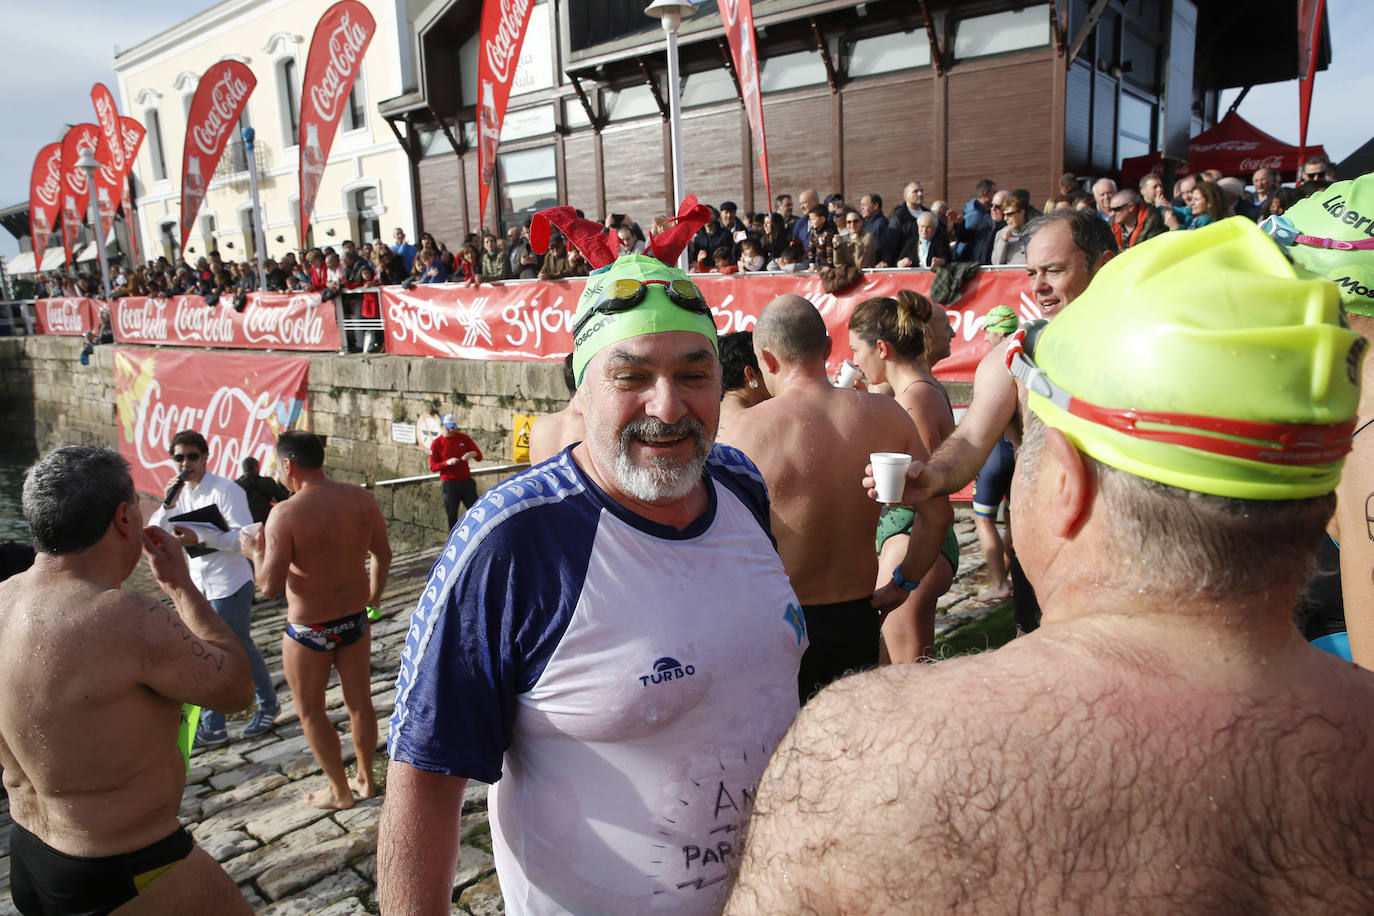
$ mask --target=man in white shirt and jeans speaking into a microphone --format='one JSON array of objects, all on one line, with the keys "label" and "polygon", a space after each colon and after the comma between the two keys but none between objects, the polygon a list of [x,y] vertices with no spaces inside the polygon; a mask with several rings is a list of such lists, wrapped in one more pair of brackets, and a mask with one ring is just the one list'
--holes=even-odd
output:
[{"label": "man in white shirt and jeans speaking into a microphone", "polygon": [[[177,475],[168,481],[169,499],[158,507],[148,523],[170,531],[181,542],[187,551],[191,580],[210,602],[214,612],[239,637],[249,656],[257,711],[243,729],[243,737],[254,737],[272,728],[280,706],[272,674],[267,670],[267,662],[262,661],[262,652],[253,643],[250,632],[253,567],[239,548],[239,529],[253,523],[249,497],[232,479],[207,470],[210,446],[198,431],[181,430],[173,435],[168,452]],[[217,520],[223,520],[227,530],[218,530],[218,526],[210,522],[195,527],[176,523],[177,516],[198,509],[206,515],[218,514]],[[199,747],[228,744],[229,732],[225,728],[224,714],[209,709],[202,711],[195,742]]]}]

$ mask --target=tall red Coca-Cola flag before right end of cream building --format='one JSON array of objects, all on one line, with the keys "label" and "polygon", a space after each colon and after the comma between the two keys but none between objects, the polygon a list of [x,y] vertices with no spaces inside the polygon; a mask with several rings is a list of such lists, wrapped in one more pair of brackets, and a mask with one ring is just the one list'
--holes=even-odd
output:
[{"label": "tall red Coca-Cola flag before right end of cream building", "polygon": [[376,22],[357,0],[339,0],[324,11],[311,38],[301,82],[301,247],[311,227],[315,195],[320,191],[324,163],[334,146],[348,95],[353,91],[363,54],[372,41]]}]

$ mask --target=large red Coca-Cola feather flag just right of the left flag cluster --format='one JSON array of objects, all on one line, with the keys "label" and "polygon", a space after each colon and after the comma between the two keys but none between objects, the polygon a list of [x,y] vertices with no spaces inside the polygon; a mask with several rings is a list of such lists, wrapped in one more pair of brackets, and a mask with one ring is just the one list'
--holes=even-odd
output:
[{"label": "large red Coca-Cola feather flag just right of the left flag cluster", "polygon": [[185,115],[181,147],[181,250],[191,239],[195,217],[205,201],[205,185],[220,166],[224,146],[239,124],[257,77],[238,60],[220,60],[201,74]]}]

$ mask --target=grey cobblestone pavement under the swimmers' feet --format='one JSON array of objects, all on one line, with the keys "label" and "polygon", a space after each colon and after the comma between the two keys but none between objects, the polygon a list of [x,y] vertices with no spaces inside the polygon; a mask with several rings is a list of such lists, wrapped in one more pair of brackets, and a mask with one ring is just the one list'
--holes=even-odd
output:
[{"label": "grey cobblestone pavement under the swimmers' feet", "polygon": [[[980,619],[989,607],[971,597],[984,584],[984,563],[967,509],[956,512],[959,575],[940,602],[938,632]],[[396,674],[409,612],[433,564],[434,552],[398,555],[387,582],[385,617],[372,625],[372,703],[378,718],[374,773],[385,791],[386,722],[396,699]],[[140,564],[129,582],[157,593]],[[267,735],[238,737],[249,713],[229,720],[234,740],[191,755],[181,823],[196,843],[218,860],[254,909],[271,916],[350,916],[376,912],[376,825],[382,799],[359,802],[345,812],[326,812],[301,798],[322,788],[324,777],[306,746],[290,691],[282,676],[283,602],[253,608],[253,639],[278,683],[282,715]],[[344,742],[345,764],[354,765],[348,711],[337,681],[328,691],[330,718]],[[452,912],[488,916],[504,912],[492,865],[486,824],[486,787],[469,783],[463,802],[463,847],[453,880]],[[16,913],[10,900],[10,803],[0,798],[0,916]]]}]

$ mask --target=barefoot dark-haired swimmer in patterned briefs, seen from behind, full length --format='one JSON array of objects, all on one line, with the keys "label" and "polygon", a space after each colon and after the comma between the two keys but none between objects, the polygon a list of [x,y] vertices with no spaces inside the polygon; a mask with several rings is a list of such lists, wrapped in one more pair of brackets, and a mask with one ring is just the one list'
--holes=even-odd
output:
[{"label": "barefoot dark-haired swimmer in patterned briefs, seen from behind, full length", "polygon": [[[245,531],[243,555],[253,560],[264,595],[286,589],[287,621],[282,667],[311,753],[328,788],[309,792],[308,805],[352,808],[372,798],[376,714],[372,711],[372,641],[367,608],[381,604],[392,547],[376,501],[361,486],[324,474],[324,444],[293,430],[276,441],[278,466],[294,496],[267,525]],[[371,563],[364,566],[364,558]],[[324,689],[337,670],[353,729],[357,776],[346,779],[338,732],[324,711]]]}]

